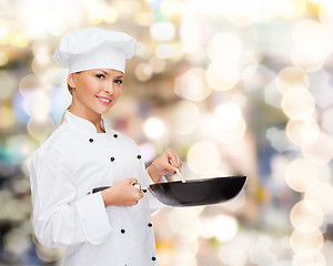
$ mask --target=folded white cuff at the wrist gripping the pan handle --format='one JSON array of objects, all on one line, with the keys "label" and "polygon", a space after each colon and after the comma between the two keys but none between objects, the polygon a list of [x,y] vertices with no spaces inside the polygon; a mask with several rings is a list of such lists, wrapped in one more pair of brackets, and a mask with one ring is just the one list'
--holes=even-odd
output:
[{"label": "folded white cuff at the wrist gripping the pan handle", "polygon": [[83,234],[89,243],[102,244],[112,227],[109,223],[102,194],[90,194],[75,203]]}]

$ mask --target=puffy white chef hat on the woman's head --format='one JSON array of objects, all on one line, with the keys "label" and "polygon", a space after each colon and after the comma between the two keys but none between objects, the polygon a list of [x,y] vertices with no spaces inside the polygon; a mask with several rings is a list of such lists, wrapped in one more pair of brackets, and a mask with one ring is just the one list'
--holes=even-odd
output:
[{"label": "puffy white chef hat on the woman's head", "polygon": [[123,32],[97,28],[67,33],[58,43],[53,60],[69,73],[113,69],[124,73],[125,60],[135,54],[137,41]]}]

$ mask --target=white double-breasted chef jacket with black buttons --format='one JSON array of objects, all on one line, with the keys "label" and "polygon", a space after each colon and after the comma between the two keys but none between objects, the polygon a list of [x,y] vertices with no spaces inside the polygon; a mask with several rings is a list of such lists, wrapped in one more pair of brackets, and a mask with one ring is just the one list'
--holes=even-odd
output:
[{"label": "white double-breasted chef jacket with black buttons", "polygon": [[[103,121],[101,123],[103,126]],[[64,266],[159,265],[150,192],[134,206],[108,206],[92,188],[123,178],[152,184],[138,145],[128,136],[67,112],[31,164],[34,233],[48,247],[68,246]]]}]

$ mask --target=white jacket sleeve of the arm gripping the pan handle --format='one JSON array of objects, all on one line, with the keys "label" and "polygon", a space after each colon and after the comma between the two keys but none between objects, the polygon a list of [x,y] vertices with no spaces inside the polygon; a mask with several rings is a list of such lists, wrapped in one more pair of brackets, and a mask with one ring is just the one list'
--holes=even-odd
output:
[{"label": "white jacket sleeve of the arm gripping the pan handle", "polygon": [[65,155],[37,153],[30,171],[34,233],[48,247],[103,243],[111,232],[101,193],[75,201],[75,183]]}]

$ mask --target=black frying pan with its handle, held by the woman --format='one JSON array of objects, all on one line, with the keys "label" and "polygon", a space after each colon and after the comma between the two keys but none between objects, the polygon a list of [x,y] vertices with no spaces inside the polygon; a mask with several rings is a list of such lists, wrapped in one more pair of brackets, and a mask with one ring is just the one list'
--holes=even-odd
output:
[{"label": "black frying pan with its handle, held by the woman", "polygon": [[[201,180],[173,181],[152,184],[149,187],[134,186],[147,192],[148,190],[163,204],[176,207],[218,204],[235,197],[244,187],[246,176],[228,176]],[[108,188],[97,187],[92,193]]]}]

